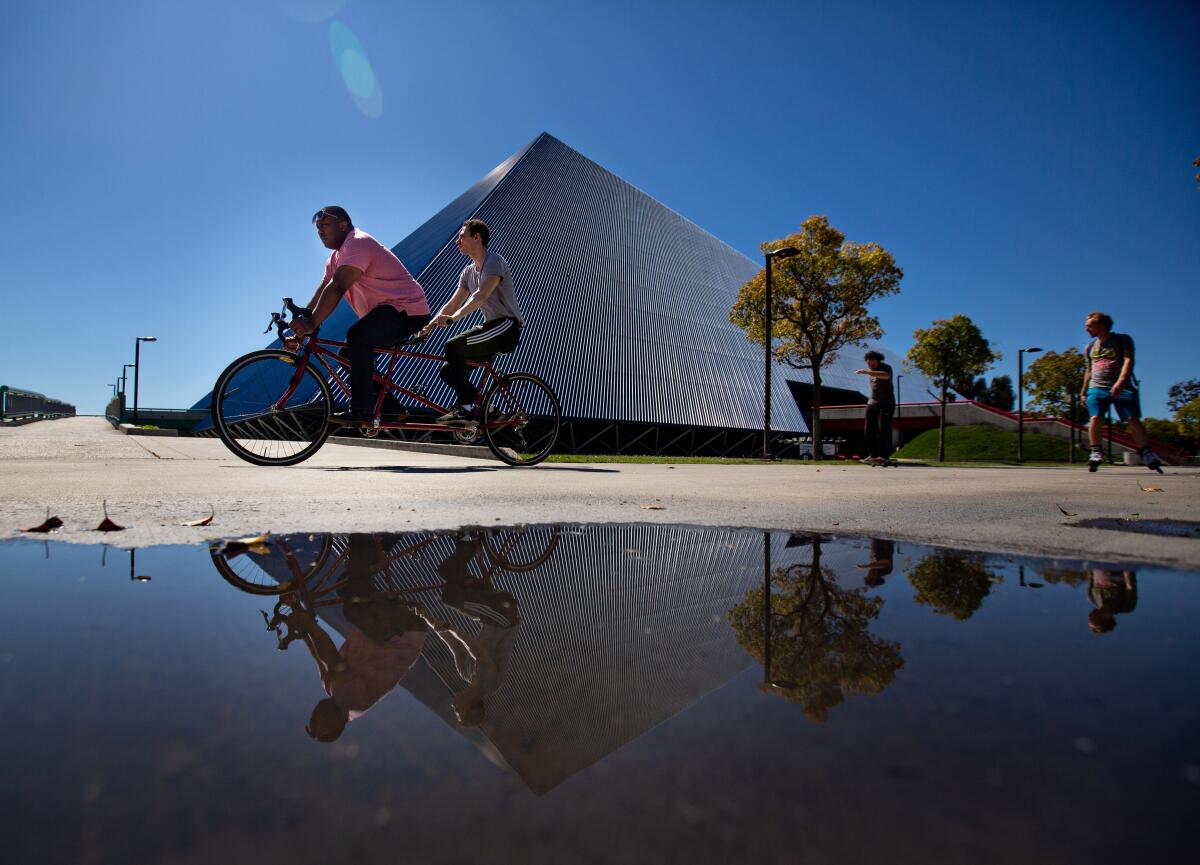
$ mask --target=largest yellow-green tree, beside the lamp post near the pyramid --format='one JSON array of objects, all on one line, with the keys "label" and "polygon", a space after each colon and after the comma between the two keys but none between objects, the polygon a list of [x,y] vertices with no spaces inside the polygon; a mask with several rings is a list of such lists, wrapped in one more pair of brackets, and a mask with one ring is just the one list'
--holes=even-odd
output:
[{"label": "largest yellow-green tree, beside the lamp post near the pyramid", "polygon": [[[772,264],[772,353],[782,364],[812,372],[812,456],[820,459],[821,370],[847,346],[883,336],[866,307],[896,294],[904,271],[882,246],[846,240],[824,216],[810,216],[798,233],[760,248],[766,253],[785,246],[798,254]],[[742,287],[730,310],[730,320],[760,344],[766,331],[766,271],[760,271]]]}]

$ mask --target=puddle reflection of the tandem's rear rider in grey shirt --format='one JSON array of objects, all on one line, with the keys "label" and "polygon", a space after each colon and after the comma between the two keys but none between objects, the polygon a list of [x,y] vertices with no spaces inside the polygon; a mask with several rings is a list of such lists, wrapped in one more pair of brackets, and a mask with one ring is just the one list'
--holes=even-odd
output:
[{"label": "puddle reflection of the tandem's rear rider in grey shirt", "polygon": [[484,721],[484,702],[496,692],[504,675],[504,667],[512,653],[516,625],[521,624],[516,599],[508,591],[480,582],[470,572],[470,563],[479,546],[463,533],[455,539],[450,555],[438,565],[445,581],[442,600],[480,623],[479,633],[467,638],[475,656],[475,674],[452,702],[458,722],[473,727]]}]

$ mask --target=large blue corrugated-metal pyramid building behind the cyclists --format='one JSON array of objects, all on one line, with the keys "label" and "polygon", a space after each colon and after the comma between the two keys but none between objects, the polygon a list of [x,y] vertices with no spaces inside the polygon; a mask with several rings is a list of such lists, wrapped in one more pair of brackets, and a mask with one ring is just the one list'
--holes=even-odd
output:
[{"label": "large blue corrugated-metal pyramid building behind the cyclists", "polygon": [[[559,450],[761,450],[762,347],[728,320],[761,263],[542,133],[392,248],[434,310],[467,263],[454,239],[468,218],[491,228],[490,248],[509,262],[526,318],[520,347],[498,366],[533,372],[556,390]],[[342,304],[322,336],[344,338],[354,320]],[[437,332],[427,350],[440,353],[456,330]],[[853,374],[858,352],[846,354],[822,371],[827,404],[866,401],[865,382]],[[427,361],[412,361],[398,378],[452,402]],[[775,365],[774,383],[776,437],[806,433],[811,374]],[[197,403],[206,407],[208,397]]]}]

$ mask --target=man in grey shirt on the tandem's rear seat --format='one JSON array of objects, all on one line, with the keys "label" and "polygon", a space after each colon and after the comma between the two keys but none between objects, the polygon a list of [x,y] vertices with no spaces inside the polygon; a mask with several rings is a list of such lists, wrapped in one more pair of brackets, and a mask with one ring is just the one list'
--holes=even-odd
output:
[{"label": "man in grey shirt on the tandem's rear seat", "polygon": [[438,418],[439,424],[472,426],[480,420],[475,400],[478,389],[470,382],[467,361],[488,360],[497,352],[511,352],[521,340],[521,308],[512,292],[509,263],[487,248],[491,232],[481,220],[467,220],[458,232],[458,252],[470,257],[470,264],[458,275],[458,288],[450,295],[425,329],[445,328],[461,322],[475,310],[482,310],[484,323],[446,341],[446,362],[442,380],[454,388],[455,408]]}]

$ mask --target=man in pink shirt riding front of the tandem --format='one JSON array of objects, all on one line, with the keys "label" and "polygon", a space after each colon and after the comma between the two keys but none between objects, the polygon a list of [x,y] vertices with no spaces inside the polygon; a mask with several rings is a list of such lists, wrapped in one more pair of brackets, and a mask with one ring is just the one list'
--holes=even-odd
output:
[{"label": "man in pink shirt riding front of the tandem", "polygon": [[430,322],[425,289],[396,258],[391,250],[366,232],[354,227],[342,208],[322,208],[312,217],[317,235],[334,252],[325,263],[325,275],[308,301],[311,317],[292,324],[296,336],[320,326],[343,296],[359,316],[346,331],[344,355],[350,364],[350,410],[338,412],[335,424],[370,424],[374,416],[371,376],[374,352],[392,346]]}]

